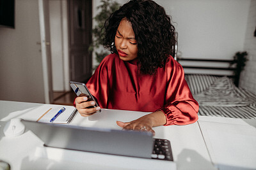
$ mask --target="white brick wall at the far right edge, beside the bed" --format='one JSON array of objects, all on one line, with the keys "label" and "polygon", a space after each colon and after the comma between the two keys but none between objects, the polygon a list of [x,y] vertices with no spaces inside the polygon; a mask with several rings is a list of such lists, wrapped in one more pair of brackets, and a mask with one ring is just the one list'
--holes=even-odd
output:
[{"label": "white brick wall at the far right edge, beside the bed", "polygon": [[240,86],[256,94],[256,37],[253,36],[256,27],[256,0],[251,1],[248,12],[247,29],[244,50],[248,52],[248,61],[241,73]]}]

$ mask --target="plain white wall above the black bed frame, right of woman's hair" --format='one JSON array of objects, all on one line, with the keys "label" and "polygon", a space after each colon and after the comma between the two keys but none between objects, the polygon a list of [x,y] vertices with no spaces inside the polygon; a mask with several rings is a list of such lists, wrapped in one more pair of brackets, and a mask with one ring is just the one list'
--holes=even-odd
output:
[{"label": "plain white wall above the black bed frame, right of woman's hair", "polygon": [[231,59],[243,50],[250,0],[158,0],[179,33],[181,57]]}]

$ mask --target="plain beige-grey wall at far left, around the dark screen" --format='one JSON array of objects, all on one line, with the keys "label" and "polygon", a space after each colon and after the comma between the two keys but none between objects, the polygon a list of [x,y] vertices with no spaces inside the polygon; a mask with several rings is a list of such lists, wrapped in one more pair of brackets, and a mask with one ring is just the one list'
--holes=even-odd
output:
[{"label": "plain beige-grey wall at far left, around the dark screen", "polygon": [[15,0],[15,29],[0,27],[0,100],[44,103],[38,1]]}]

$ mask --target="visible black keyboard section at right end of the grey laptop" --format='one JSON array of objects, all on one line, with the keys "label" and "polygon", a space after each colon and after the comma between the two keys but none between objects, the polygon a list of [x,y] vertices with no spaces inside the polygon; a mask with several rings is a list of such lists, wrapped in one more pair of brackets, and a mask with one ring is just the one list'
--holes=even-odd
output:
[{"label": "visible black keyboard section at right end of the grey laptop", "polygon": [[170,160],[173,161],[172,149],[169,140],[154,139],[154,149],[151,154],[152,159]]}]

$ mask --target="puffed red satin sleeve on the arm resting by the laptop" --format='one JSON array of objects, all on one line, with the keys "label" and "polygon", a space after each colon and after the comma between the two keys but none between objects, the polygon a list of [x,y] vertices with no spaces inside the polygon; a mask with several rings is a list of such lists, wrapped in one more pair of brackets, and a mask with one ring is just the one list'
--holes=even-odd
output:
[{"label": "puffed red satin sleeve on the arm resting by the laptop", "polygon": [[182,66],[171,57],[166,63],[166,73],[166,104],[159,109],[166,116],[165,125],[186,125],[196,122],[199,106],[184,79]]}]

